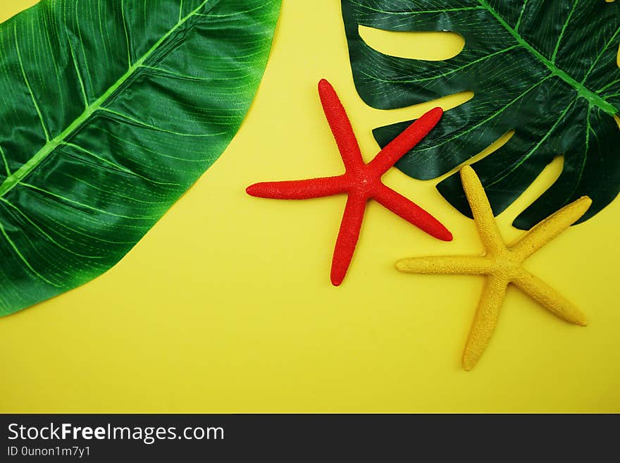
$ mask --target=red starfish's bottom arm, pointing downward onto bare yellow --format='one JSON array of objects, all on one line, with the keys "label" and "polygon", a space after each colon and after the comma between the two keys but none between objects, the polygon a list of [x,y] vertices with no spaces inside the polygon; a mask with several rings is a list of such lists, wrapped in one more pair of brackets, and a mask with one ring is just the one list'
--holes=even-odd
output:
[{"label": "red starfish's bottom arm, pointing downward onto bare yellow", "polygon": [[364,220],[365,210],[366,198],[349,195],[332,259],[331,280],[334,286],[340,286],[347,275],[359,239],[359,230]]}]

